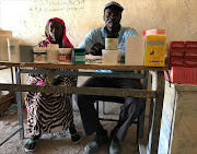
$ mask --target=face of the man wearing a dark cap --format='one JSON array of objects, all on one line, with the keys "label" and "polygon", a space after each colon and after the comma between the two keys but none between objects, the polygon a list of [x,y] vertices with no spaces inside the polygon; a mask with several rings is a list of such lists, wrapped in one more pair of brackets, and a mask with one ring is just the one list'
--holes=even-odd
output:
[{"label": "face of the man wearing a dark cap", "polygon": [[103,19],[108,29],[117,28],[121,20],[121,11],[117,8],[107,8],[104,11]]}]

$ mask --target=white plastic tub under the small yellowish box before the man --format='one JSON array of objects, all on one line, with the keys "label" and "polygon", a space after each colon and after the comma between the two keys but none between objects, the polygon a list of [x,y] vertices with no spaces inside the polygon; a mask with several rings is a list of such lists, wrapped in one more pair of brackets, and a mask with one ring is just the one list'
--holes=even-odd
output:
[{"label": "white plastic tub under the small yellowish box before the man", "polygon": [[102,49],[103,64],[117,66],[120,64],[121,50]]}]

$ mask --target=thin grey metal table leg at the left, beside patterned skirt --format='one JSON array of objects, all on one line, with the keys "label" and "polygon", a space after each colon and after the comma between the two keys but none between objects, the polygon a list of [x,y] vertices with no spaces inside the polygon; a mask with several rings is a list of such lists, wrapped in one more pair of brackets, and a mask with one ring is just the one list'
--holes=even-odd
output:
[{"label": "thin grey metal table leg at the left, beside patterned skirt", "polygon": [[[21,84],[20,68],[18,67],[15,68],[15,81],[16,84]],[[20,139],[24,139],[22,92],[16,92],[16,103],[18,103],[19,126],[21,127]]]}]

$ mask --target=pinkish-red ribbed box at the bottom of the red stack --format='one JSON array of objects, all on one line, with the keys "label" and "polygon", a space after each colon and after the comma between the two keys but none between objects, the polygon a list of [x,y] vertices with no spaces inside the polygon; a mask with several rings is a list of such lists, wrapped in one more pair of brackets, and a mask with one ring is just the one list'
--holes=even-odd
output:
[{"label": "pinkish-red ribbed box at the bottom of the red stack", "polygon": [[197,68],[172,67],[167,72],[165,79],[172,83],[197,84]]}]

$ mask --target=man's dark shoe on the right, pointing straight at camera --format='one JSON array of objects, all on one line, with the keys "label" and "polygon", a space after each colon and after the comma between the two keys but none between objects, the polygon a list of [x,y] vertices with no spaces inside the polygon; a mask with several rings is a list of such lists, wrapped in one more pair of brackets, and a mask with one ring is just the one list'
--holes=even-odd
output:
[{"label": "man's dark shoe on the right, pointing straight at camera", "polygon": [[109,154],[120,154],[121,145],[118,140],[112,139],[109,145]]}]

